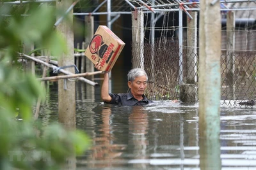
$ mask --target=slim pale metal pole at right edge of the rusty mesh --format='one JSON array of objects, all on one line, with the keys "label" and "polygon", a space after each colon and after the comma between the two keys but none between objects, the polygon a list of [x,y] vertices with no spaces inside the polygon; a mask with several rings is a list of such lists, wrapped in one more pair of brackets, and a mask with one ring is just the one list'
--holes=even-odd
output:
[{"label": "slim pale metal pole at right edge of the rusty mesh", "polygon": [[179,7],[179,85],[183,83],[183,23],[182,23],[182,7]]}]

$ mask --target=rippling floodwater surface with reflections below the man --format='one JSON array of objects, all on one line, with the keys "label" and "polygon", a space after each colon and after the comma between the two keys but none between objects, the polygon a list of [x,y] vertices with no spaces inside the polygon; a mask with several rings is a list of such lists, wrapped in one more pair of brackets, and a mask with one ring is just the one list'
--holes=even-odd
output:
[{"label": "rippling floodwater surface with reflections below the man", "polygon": [[[58,121],[56,87],[40,110],[45,125]],[[254,107],[221,106],[220,140],[204,143],[198,104],[113,106],[100,101],[99,88],[91,98],[86,92],[77,83],[76,127],[93,145],[76,158],[77,169],[256,169]]]}]

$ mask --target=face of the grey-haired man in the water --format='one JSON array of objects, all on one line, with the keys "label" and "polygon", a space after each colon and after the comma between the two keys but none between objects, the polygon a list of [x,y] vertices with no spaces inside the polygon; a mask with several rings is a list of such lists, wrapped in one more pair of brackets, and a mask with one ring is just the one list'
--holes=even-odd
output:
[{"label": "face of the grey-haired man in the water", "polygon": [[133,96],[142,96],[147,88],[147,77],[136,77],[134,81],[128,81],[128,86]]}]

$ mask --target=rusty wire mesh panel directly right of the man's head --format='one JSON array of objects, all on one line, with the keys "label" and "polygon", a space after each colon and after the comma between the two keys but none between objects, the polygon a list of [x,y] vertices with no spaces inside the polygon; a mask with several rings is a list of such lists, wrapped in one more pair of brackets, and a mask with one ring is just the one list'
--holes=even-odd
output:
[{"label": "rusty wire mesh panel directly right of the man's head", "polygon": [[[144,68],[148,74],[147,96],[154,100],[177,99],[179,88],[179,41],[156,39],[154,46],[145,43],[143,48]],[[138,51],[138,49],[132,49]],[[136,62],[136,60],[133,60]],[[138,66],[132,63],[133,66]]]}]

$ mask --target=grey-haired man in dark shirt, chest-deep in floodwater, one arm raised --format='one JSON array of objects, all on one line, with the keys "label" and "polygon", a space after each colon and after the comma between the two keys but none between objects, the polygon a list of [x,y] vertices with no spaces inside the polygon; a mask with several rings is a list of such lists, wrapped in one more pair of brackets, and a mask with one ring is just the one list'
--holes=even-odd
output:
[{"label": "grey-haired man in dark shirt, chest-deep in floodwater, one arm raised", "polygon": [[[100,70],[100,63],[95,64],[95,68]],[[118,104],[122,106],[138,106],[152,103],[144,95],[147,88],[148,76],[147,73],[140,68],[131,69],[128,76],[128,87],[131,89],[130,92],[126,94],[111,94],[109,93],[109,75],[104,74],[104,80],[101,88],[101,98],[104,103]]]}]

